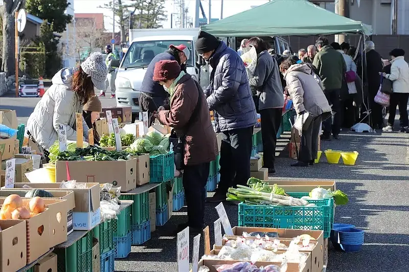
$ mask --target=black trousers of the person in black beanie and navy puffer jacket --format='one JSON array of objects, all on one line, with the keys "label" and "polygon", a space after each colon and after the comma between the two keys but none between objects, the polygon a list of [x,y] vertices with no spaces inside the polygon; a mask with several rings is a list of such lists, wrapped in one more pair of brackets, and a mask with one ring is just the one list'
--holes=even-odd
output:
[{"label": "black trousers of the person in black beanie and navy puffer jacket", "polygon": [[230,187],[246,185],[250,178],[253,127],[223,132],[220,147],[220,183],[216,194],[225,195]]}]

